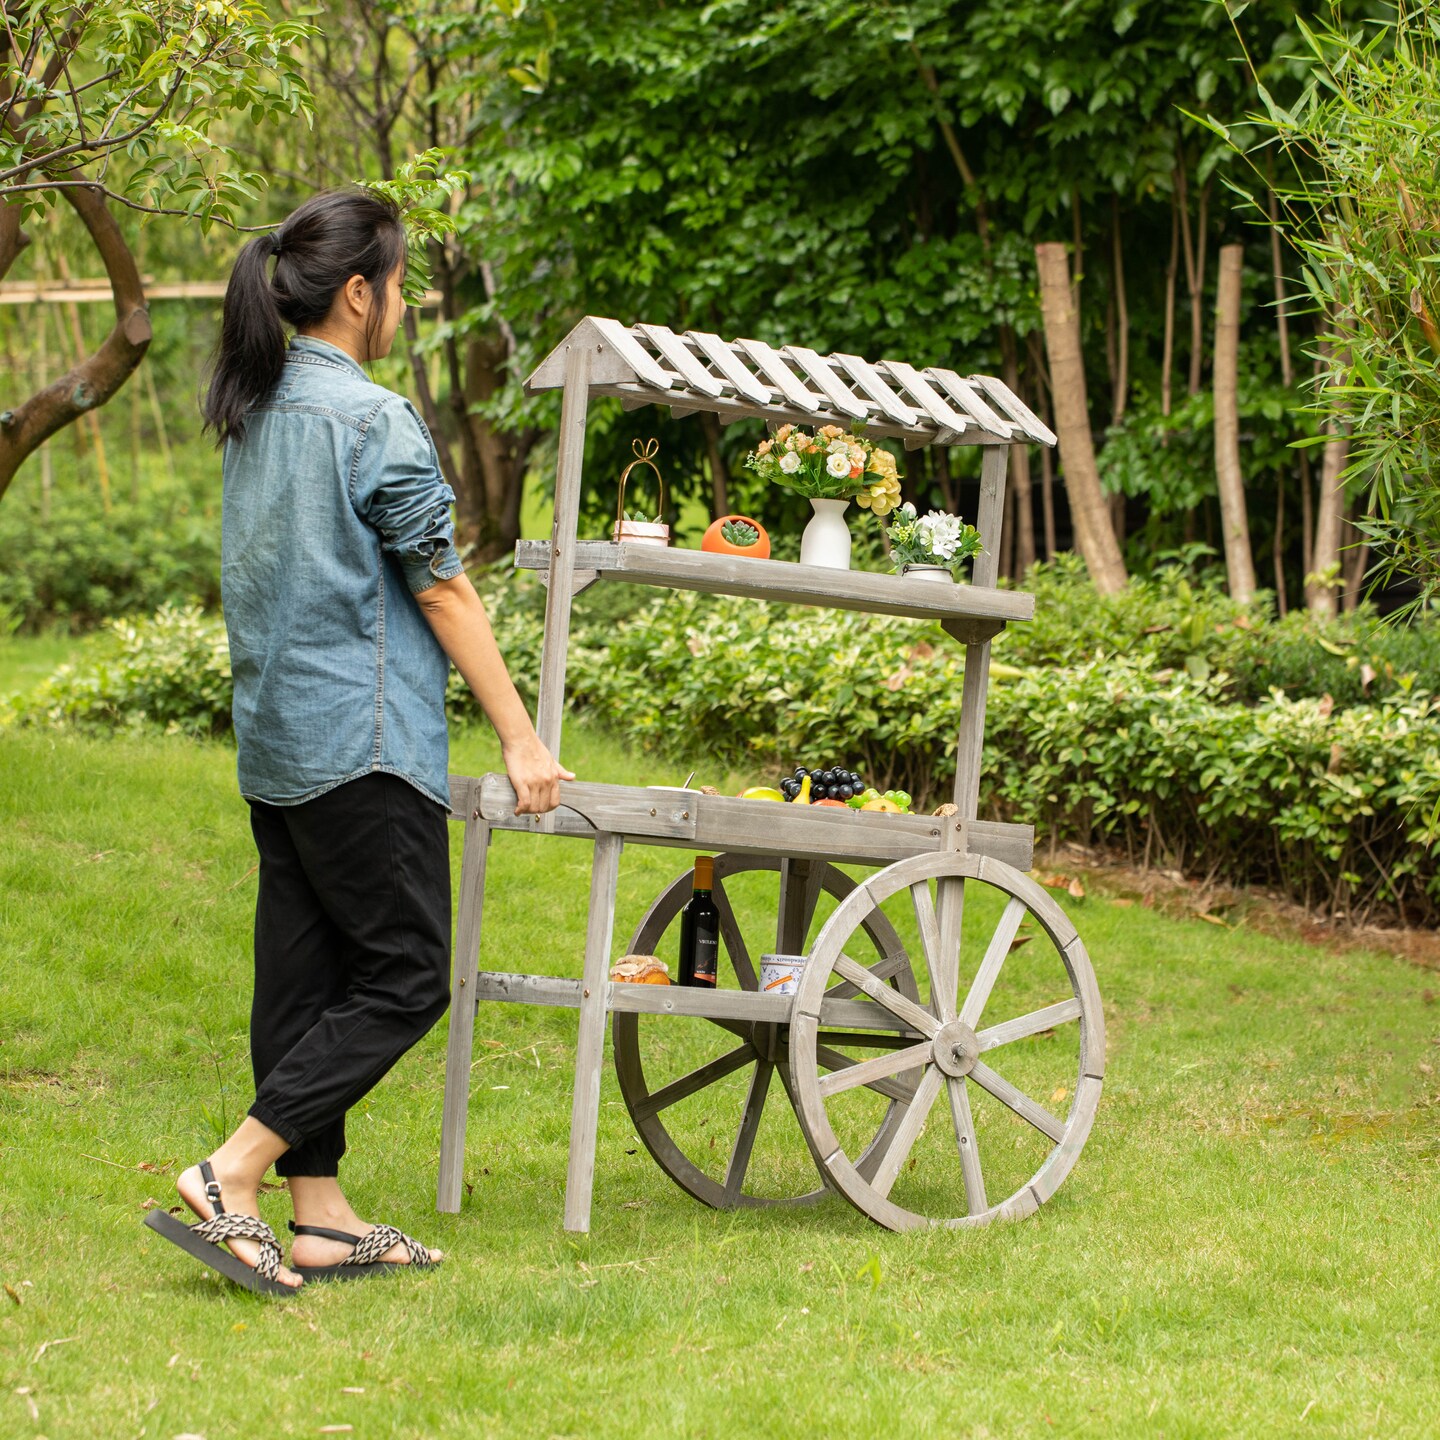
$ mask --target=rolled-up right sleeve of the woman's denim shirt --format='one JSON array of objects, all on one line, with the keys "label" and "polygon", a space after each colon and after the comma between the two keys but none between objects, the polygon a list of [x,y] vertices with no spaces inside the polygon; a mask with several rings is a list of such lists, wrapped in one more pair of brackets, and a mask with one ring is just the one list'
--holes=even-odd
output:
[{"label": "rolled-up right sleeve of the woman's denim shirt", "polygon": [[435,442],[415,408],[400,396],[382,405],[356,448],[350,498],[380,534],[412,595],[465,569],[455,553],[451,505],[455,491],[441,474]]}]

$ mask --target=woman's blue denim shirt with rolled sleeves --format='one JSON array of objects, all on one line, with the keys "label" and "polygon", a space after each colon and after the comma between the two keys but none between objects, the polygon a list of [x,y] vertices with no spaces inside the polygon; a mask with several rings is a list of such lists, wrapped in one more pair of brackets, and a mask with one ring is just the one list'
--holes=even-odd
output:
[{"label": "woman's blue denim shirt with rolled sleeves", "polygon": [[429,431],[297,336],[225,445],[220,595],[240,793],[298,805],[386,770],[448,805],[449,661],[412,596],[462,572]]}]

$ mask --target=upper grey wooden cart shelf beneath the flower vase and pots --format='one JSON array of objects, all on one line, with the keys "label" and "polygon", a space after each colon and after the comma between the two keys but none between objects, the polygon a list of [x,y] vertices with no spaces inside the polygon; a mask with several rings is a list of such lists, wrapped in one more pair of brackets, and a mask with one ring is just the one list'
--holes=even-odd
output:
[{"label": "upper grey wooden cart shelf beneath the flower vase and pots", "polygon": [[[550,541],[521,540],[516,546],[521,570],[550,572]],[[989,639],[1009,621],[1028,621],[1035,598],[1021,590],[995,590],[979,585],[936,585],[899,575],[867,570],[831,570],[785,560],[750,560],[743,556],[677,550],[671,546],[580,540],[573,566],[580,583],[628,580],[706,595],[742,595],[780,605],[819,605],[874,615],[907,615],[940,621],[965,644]],[[577,585],[579,588],[579,585]]]}]

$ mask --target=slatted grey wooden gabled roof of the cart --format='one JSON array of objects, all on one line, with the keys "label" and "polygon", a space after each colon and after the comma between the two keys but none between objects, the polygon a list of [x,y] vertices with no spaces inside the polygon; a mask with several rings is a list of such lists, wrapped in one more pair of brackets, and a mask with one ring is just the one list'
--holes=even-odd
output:
[{"label": "slatted grey wooden gabled roof of the cart", "polygon": [[801,425],[864,422],[867,432],[920,445],[994,445],[1054,433],[994,376],[959,376],[940,366],[821,356],[805,346],[721,340],[706,330],[622,325],[586,315],[526,380],[526,393],[564,386],[566,354],[590,347],[590,393],[619,396],[625,409],[668,405],[672,415],[711,410],[721,420],[760,416]]}]

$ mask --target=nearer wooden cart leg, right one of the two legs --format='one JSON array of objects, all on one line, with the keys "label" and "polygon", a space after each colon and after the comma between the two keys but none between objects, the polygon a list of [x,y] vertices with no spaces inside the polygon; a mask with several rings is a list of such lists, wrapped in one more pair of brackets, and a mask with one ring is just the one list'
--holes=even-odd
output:
[{"label": "nearer wooden cart leg, right one of the two legs", "polygon": [[564,1181],[564,1228],[577,1234],[590,1228],[595,1140],[600,1128],[606,992],[611,984],[611,937],[615,930],[615,881],[619,877],[624,844],[619,835],[596,835],[595,863],[590,868],[590,920],[585,932],[580,1030],[575,1043],[570,1169]]}]

